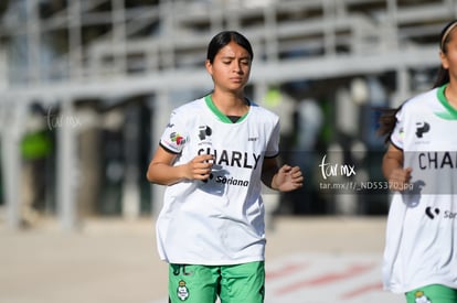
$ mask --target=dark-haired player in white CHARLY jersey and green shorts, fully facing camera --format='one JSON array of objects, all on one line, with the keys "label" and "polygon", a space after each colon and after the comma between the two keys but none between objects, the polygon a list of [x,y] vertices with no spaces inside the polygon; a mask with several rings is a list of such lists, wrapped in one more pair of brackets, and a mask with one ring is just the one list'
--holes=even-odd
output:
[{"label": "dark-haired player in white CHARLY jersey and green shorts, fully facing camera", "polygon": [[298,166],[277,164],[278,117],[244,95],[252,61],[242,34],[211,40],[214,89],[172,111],[149,164],[148,181],[167,185],[157,241],[170,264],[170,302],[264,301],[262,182],[288,192],[304,177]]}]

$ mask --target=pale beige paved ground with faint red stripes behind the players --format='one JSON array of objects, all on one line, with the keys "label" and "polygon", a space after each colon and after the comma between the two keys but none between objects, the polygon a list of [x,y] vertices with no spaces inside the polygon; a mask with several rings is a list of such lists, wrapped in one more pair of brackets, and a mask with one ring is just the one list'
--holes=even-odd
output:
[{"label": "pale beige paved ground with faint red stripes behind the players", "polygon": [[[381,290],[385,217],[280,217],[272,227],[266,303],[403,302]],[[166,283],[152,219],[93,219],[77,232],[0,220],[0,303],[164,303]]]}]

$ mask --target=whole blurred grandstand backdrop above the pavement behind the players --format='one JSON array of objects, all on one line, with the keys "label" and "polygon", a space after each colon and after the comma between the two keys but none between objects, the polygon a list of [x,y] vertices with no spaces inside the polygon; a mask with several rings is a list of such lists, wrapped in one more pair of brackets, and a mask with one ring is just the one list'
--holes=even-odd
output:
[{"label": "whole blurred grandstand backdrop above the pavement behind the players", "polygon": [[[384,215],[384,191],[322,188],[319,164],[380,181],[380,108],[432,87],[455,0],[1,0],[0,220],[157,214],[147,165],[172,108],[208,94],[210,39],[255,53],[249,97],[281,118],[281,158],[306,186],[280,215]],[[273,197],[273,198],[270,198]]]}]

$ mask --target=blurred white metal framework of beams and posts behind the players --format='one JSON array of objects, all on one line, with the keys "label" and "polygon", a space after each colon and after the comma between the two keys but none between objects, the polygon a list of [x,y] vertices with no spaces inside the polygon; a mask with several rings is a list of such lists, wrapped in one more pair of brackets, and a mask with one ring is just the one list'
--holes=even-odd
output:
[{"label": "blurred white metal framework of beams and posts behind the players", "polygon": [[[10,0],[0,20],[0,130],[8,221],[18,226],[19,139],[32,100],[59,105],[209,89],[208,42],[223,29],[253,43],[252,85],[396,74],[395,99],[412,94],[411,69],[438,66],[437,35],[455,0]],[[53,7],[54,6],[54,7]],[[163,125],[163,115],[153,123]],[[152,130],[160,131],[161,127]],[[77,128],[59,128],[57,201],[75,225]]]}]

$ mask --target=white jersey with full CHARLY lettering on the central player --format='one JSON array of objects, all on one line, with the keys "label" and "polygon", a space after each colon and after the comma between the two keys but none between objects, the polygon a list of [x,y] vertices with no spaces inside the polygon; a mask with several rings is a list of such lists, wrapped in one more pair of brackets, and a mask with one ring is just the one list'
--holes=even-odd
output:
[{"label": "white jersey with full CHARLY lettering on the central player", "polygon": [[210,96],[173,110],[160,144],[178,154],[174,165],[198,154],[213,154],[214,163],[208,181],[167,186],[157,220],[161,259],[209,266],[264,260],[262,163],[278,154],[278,117],[255,104],[236,123]]}]

